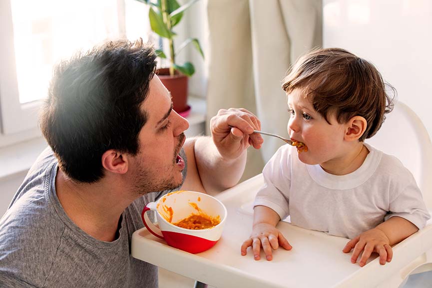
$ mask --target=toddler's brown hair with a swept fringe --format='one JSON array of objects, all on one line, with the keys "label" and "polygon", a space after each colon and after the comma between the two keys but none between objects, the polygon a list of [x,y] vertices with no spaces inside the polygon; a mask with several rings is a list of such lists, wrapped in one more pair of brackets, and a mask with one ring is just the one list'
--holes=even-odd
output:
[{"label": "toddler's brown hair with a swept fringe", "polygon": [[[386,86],[393,97],[387,94]],[[360,141],[381,128],[385,114],[393,110],[396,95],[373,64],[341,48],[317,49],[300,57],[282,84],[287,94],[297,88],[327,122],[329,113],[336,113],[341,124],[354,116],[364,117],[368,124]]]}]

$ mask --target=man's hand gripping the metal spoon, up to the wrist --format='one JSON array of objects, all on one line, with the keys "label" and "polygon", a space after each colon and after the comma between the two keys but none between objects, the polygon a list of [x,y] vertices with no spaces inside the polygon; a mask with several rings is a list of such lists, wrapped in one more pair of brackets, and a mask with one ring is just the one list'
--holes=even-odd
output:
[{"label": "man's hand gripping the metal spoon, up to the wrist", "polygon": [[237,159],[250,145],[259,149],[263,143],[260,134],[261,122],[246,109],[221,109],[210,120],[213,142],[221,156],[225,159]]}]

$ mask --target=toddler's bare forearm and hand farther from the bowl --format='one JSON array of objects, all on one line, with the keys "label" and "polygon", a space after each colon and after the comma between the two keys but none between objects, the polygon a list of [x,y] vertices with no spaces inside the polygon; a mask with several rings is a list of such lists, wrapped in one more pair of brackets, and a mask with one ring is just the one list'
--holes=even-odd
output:
[{"label": "toddler's bare forearm and hand farther from the bowl", "polygon": [[393,251],[391,246],[408,238],[417,230],[419,230],[417,226],[410,221],[394,216],[376,228],[368,230],[348,242],[343,252],[349,253],[354,249],[351,262],[356,263],[360,253],[363,251],[359,263],[361,267],[365,266],[371,254],[376,252],[380,255],[380,264],[385,265],[386,261],[392,261]]}]

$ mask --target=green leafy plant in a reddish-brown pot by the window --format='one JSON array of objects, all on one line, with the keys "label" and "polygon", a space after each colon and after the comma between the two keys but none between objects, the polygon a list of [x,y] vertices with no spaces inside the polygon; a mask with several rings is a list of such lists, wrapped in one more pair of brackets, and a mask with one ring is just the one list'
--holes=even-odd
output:
[{"label": "green leafy plant in a reddish-brown pot by the window", "polygon": [[187,82],[188,77],[195,73],[195,67],[190,62],[178,64],[176,55],[187,45],[193,44],[201,56],[204,53],[196,38],[186,39],[177,49],[174,49],[174,37],[176,33],[173,28],[180,22],[183,12],[198,0],[190,0],[180,6],[177,0],[137,0],[150,5],[149,20],[151,29],[162,38],[168,39],[169,55],[162,49],[156,49],[160,58],[169,59],[169,67],[159,68],[156,73],[165,87],[171,92],[174,110],[178,113],[190,109],[187,105]]}]

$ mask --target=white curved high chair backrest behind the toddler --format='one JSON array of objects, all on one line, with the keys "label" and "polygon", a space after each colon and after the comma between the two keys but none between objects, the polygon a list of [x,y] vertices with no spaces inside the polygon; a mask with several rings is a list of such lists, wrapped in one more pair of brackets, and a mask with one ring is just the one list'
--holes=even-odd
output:
[{"label": "white curved high chair backrest behind the toddler", "polygon": [[426,206],[432,210],[432,143],[419,116],[406,104],[396,102],[381,129],[365,142],[402,161],[417,181]]}]

